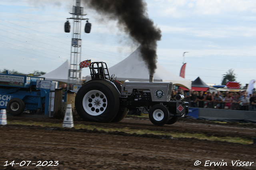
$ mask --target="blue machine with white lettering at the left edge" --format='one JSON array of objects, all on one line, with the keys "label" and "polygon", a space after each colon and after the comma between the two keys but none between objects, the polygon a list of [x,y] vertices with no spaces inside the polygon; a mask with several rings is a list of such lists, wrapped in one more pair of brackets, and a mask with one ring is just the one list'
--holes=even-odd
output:
[{"label": "blue machine with white lettering at the left edge", "polygon": [[42,77],[16,74],[0,74],[0,109],[6,109],[12,115],[19,115],[24,110],[36,115],[52,117],[49,114],[50,87],[55,90],[55,83]]}]

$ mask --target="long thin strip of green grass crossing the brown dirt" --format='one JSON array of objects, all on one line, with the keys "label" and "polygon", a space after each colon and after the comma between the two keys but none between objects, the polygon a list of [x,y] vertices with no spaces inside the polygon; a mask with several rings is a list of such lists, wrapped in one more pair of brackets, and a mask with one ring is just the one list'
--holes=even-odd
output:
[{"label": "long thin strip of green grass crossing the brown dirt", "polygon": [[[7,124],[9,125],[34,125],[34,126],[41,126],[41,127],[62,127],[62,123],[47,123],[47,122],[33,122],[33,121],[28,121],[28,122],[23,122],[23,121],[7,121]],[[145,129],[130,129],[128,127],[125,128],[107,128],[107,127],[97,127],[94,125],[83,125],[83,124],[76,124],[74,125],[75,129],[98,129],[98,131],[103,130],[106,132],[111,132],[111,131],[123,131],[125,133],[136,133],[136,134],[154,134],[154,135],[168,135],[172,136],[174,138],[197,138],[197,139],[206,139],[208,141],[227,141],[227,142],[232,142],[232,143],[241,143],[241,144],[252,144],[252,140],[248,139],[243,139],[243,138],[238,138],[238,137],[214,137],[214,136],[206,136],[204,134],[191,134],[191,133],[170,133],[170,132],[163,132],[163,131],[150,131],[150,130],[145,130]]]}]

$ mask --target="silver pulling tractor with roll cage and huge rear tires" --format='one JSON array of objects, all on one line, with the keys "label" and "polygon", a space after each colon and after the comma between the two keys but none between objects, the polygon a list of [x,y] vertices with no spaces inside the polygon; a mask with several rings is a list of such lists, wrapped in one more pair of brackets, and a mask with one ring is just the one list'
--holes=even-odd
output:
[{"label": "silver pulling tractor with roll cage and huge rear tires", "polygon": [[171,100],[172,82],[129,82],[121,84],[110,76],[104,62],[90,64],[92,80],[83,84],[75,98],[84,121],[119,122],[129,111],[145,109],[154,125],[171,125],[188,113],[183,95]]}]

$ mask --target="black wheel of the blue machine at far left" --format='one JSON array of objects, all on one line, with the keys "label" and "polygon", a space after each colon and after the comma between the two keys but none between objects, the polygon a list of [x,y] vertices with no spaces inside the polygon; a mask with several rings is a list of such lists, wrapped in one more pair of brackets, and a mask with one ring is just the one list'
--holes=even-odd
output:
[{"label": "black wheel of the blue machine at far left", "polygon": [[25,103],[20,98],[12,98],[6,106],[8,113],[12,115],[20,115],[25,109]]}]

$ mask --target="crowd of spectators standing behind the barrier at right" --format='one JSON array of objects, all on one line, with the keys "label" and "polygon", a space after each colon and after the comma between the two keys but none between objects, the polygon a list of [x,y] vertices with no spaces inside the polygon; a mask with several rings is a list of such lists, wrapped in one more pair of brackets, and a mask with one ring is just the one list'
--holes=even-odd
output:
[{"label": "crowd of spectators standing behind the barrier at right", "polygon": [[244,111],[256,111],[256,93],[248,95],[246,91],[239,92],[197,92],[190,90],[184,92],[182,89],[172,90],[172,99],[176,94],[182,94],[190,107],[232,109]]}]

